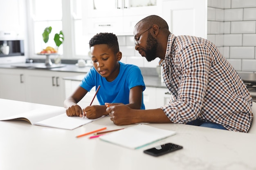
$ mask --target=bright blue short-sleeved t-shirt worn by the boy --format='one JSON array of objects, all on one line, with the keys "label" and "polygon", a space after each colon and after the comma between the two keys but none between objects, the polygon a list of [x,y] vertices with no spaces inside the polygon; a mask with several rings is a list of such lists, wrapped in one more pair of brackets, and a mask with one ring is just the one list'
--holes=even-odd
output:
[{"label": "bright blue short-sleeved t-shirt worn by the boy", "polygon": [[[102,77],[92,67],[80,84],[87,91],[90,91],[94,86],[95,88],[99,85],[101,86],[97,93],[97,99],[100,105],[104,105],[105,103],[129,104],[129,93],[132,87],[141,86],[142,91],[146,88],[138,66],[124,64],[122,62],[119,62],[119,64],[119,74],[112,82],[108,82],[105,77]],[[145,109],[143,93],[141,109]]]}]

